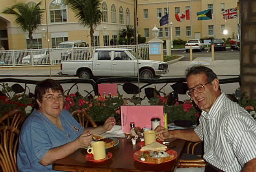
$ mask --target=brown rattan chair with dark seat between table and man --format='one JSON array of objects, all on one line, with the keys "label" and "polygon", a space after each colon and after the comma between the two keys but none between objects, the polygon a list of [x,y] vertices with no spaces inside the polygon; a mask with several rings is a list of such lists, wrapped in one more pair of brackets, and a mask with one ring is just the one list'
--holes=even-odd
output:
[{"label": "brown rattan chair with dark seat between table and man", "polygon": [[202,142],[189,142],[187,144],[187,154],[182,154],[181,158],[178,160],[178,168],[205,167],[206,162],[201,158],[202,156],[195,154],[195,148],[200,144],[202,144]]}]

